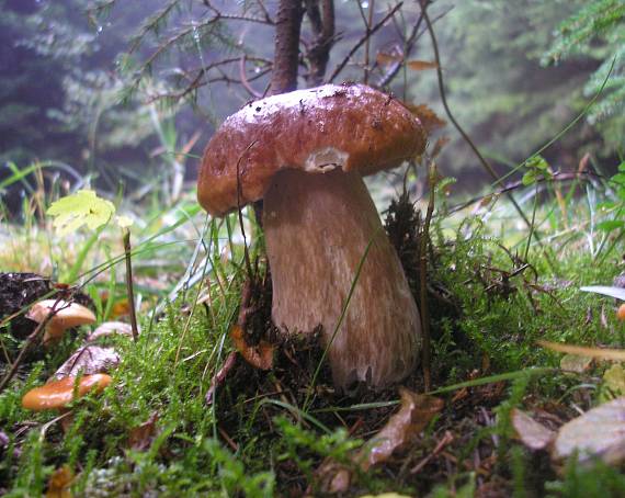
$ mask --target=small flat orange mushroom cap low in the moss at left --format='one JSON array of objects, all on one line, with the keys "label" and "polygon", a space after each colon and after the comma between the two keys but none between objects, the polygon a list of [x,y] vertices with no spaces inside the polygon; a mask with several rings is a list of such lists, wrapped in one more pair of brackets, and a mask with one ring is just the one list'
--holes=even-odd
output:
[{"label": "small flat orange mushroom cap low in the moss at left", "polygon": [[[84,396],[91,391],[102,392],[112,378],[106,374],[84,375],[80,378],[77,389],[78,397]],[[22,406],[27,410],[52,410],[64,408],[75,398],[76,377],[64,377],[60,381],[52,381],[41,387],[29,391],[22,398]]]}]

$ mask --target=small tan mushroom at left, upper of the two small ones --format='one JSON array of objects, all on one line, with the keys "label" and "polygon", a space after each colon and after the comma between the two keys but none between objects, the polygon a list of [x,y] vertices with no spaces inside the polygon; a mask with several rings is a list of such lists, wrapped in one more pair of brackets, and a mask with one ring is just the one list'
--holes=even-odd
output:
[{"label": "small tan mushroom at left, upper of the two small ones", "polygon": [[35,303],[29,310],[26,318],[41,324],[53,313],[53,309],[56,313],[46,325],[44,344],[58,342],[65,330],[69,328],[95,321],[95,315],[88,307],[60,299],[44,299]]}]

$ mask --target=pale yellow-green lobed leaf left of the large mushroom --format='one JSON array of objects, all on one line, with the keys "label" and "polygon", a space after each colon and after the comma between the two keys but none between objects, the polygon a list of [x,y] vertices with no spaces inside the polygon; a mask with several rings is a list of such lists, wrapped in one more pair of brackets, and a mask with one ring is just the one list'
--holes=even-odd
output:
[{"label": "pale yellow-green lobed leaf left of the large mushroom", "polygon": [[109,223],[114,213],[113,203],[99,197],[92,190],[79,190],[59,199],[46,212],[55,218],[54,227],[60,235],[72,234],[82,225],[96,229]]}]

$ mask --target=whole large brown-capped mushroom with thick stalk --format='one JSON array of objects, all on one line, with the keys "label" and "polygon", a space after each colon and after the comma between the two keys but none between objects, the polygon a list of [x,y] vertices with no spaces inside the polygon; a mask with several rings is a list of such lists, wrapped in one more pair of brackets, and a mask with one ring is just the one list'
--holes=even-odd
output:
[{"label": "whole large brown-capped mushroom with thick stalk", "polygon": [[418,362],[419,309],[362,177],[424,146],[393,97],[327,84],[245,105],[204,152],[197,199],[208,213],[264,199],[272,319],[285,336],[322,326],[338,388],[382,388]]}]

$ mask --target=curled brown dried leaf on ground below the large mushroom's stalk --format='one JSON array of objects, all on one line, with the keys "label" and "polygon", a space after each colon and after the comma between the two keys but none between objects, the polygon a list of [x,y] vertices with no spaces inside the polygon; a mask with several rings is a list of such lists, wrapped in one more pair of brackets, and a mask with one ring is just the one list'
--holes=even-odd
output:
[{"label": "curled brown dried leaf on ground below the large mushroom's stalk", "polygon": [[444,401],[434,396],[416,394],[402,387],[401,407],[360,452],[359,461],[366,471],[387,461],[393,452],[410,444],[432,418],[443,409]]}]

